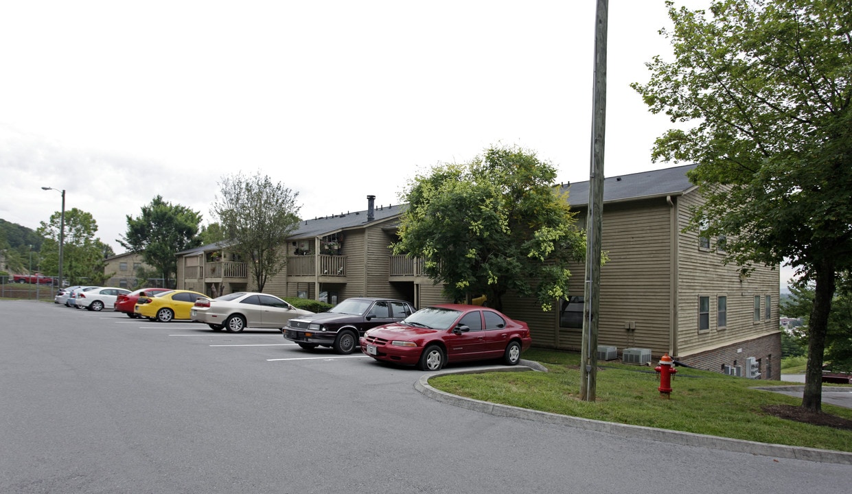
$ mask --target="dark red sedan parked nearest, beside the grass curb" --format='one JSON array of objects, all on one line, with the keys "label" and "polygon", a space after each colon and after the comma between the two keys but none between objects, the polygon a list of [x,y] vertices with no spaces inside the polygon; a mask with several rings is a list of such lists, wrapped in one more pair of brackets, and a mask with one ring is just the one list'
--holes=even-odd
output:
[{"label": "dark red sedan parked nearest, beside the grass curb", "polygon": [[361,351],[373,359],[417,365],[420,370],[501,358],[505,365],[516,365],[532,342],[527,323],[492,308],[460,304],[426,307],[360,338]]}]

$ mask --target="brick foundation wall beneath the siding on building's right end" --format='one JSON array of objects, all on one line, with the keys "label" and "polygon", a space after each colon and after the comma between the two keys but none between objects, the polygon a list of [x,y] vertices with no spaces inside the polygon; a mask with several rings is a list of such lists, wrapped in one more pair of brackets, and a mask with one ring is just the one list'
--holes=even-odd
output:
[{"label": "brick foundation wall beneath the siding on building's right end", "polygon": [[761,336],[747,342],[739,342],[728,347],[717,348],[688,357],[675,359],[686,365],[703,370],[723,372],[725,365],[742,365],[745,376],[746,357],[757,359],[760,377],[779,381],[781,378],[781,335]]}]

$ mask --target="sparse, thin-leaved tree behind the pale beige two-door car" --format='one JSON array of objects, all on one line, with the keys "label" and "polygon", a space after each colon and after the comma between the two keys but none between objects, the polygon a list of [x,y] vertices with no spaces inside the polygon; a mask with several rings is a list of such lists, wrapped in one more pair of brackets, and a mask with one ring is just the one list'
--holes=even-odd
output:
[{"label": "sparse, thin-leaved tree behind the pale beige two-door car", "polygon": [[226,176],[219,185],[220,197],[212,212],[219,218],[228,249],[248,260],[257,290],[263,291],[267,280],[286,265],[284,245],[300,221],[299,193],[260,172]]}]

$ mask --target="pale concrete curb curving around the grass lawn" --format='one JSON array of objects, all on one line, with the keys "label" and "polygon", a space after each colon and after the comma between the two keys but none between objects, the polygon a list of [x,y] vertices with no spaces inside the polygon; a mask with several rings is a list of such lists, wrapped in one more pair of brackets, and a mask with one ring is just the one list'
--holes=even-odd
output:
[{"label": "pale concrete curb curving around the grass lawn", "polygon": [[[762,455],[765,457],[791,458],[796,460],[804,460],[807,462],[824,462],[824,463],[839,463],[843,465],[852,465],[852,453],[844,451],[819,450],[816,448],[800,448],[796,446],[774,445],[769,443],[758,443],[755,441],[746,441],[741,439],[728,439],[711,436],[706,434],[693,434],[681,431],[673,431],[661,428],[649,428],[636,425],[627,425],[615,422],[603,422],[598,420],[590,420],[579,418],[576,416],[559,415],[546,411],[534,411],[517,406],[498,405],[481,401],[479,399],[469,399],[457,396],[455,394],[445,393],[438,389],[429,386],[429,379],[435,376],[443,376],[446,374],[477,374],[481,372],[516,372],[525,370],[541,370],[541,367],[536,362],[529,360],[521,360],[521,364],[514,367],[506,366],[489,366],[476,367],[461,370],[440,370],[431,372],[421,376],[414,383],[414,388],[423,395],[431,399],[446,403],[449,405],[459,406],[473,411],[481,411],[494,416],[507,416],[514,418],[522,418],[536,422],[546,422],[556,425],[562,425],[573,428],[583,428],[607,434],[615,434],[622,437],[631,437],[637,439],[651,439],[654,441],[666,442],[676,445],[700,446],[705,448],[714,448],[723,451],[736,451],[741,453],[751,453],[753,455]],[[546,371],[546,369],[544,369]]]}]

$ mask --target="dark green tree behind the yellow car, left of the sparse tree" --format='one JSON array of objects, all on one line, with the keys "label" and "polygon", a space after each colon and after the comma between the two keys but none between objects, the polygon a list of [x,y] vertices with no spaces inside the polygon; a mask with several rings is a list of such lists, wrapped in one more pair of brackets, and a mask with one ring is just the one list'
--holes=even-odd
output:
[{"label": "dark green tree behind the yellow car, left of the sparse tree", "polygon": [[127,216],[127,233],[118,241],[125,249],[142,255],[154,267],[166,286],[177,271],[176,253],[200,245],[197,237],[201,215],[180,204],[171,204],[162,196],[142,206],[141,215]]}]

